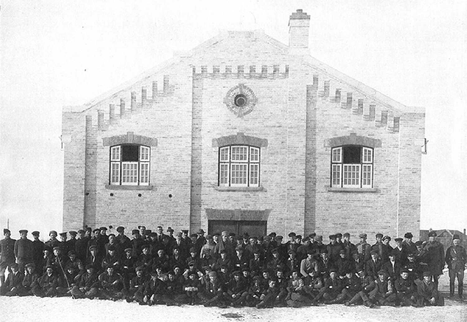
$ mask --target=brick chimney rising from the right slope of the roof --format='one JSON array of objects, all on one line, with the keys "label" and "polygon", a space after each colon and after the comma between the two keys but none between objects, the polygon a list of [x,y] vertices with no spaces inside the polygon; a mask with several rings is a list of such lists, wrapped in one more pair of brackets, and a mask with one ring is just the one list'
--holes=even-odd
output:
[{"label": "brick chimney rising from the right slope of the roof", "polygon": [[302,9],[297,9],[293,12],[289,19],[289,47],[290,49],[306,49],[308,52],[308,35],[310,29],[310,16],[303,12]]}]

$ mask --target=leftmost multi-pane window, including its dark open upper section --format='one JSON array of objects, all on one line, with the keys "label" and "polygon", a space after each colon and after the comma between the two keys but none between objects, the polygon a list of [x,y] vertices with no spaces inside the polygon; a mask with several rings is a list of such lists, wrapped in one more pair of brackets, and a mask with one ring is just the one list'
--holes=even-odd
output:
[{"label": "leftmost multi-pane window, including its dark open upper section", "polygon": [[137,144],[110,147],[111,185],[149,185],[151,149]]}]

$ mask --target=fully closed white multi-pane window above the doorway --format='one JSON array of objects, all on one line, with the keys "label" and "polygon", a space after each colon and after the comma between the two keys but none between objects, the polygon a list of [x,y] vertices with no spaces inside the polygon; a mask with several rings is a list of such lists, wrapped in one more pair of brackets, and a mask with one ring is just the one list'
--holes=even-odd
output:
[{"label": "fully closed white multi-pane window above the doorway", "polygon": [[248,145],[219,148],[219,186],[258,187],[260,149]]}]

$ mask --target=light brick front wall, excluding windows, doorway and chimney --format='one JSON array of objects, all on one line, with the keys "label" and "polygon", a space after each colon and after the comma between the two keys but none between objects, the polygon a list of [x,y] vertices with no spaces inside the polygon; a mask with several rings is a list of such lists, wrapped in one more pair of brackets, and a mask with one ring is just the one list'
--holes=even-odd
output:
[{"label": "light brick front wall, excluding windows, doorway and chimney", "polygon": [[[378,232],[394,237],[411,231],[416,236],[417,139],[424,136],[424,115],[372,98],[281,46],[257,32],[226,33],[82,113],[64,113],[64,136],[73,137],[65,145],[64,229],[122,225],[128,231],[144,224],[206,230],[205,209],[212,208],[264,211],[268,232],[283,235],[366,232],[372,240]],[[152,88],[163,79],[165,90],[142,102],[142,86]],[[239,83],[257,97],[254,110],[243,117],[223,102]],[[133,108],[131,92],[136,92]],[[126,102],[123,115],[120,99]],[[109,104],[115,105],[112,120]],[[100,125],[98,110],[103,110]],[[92,116],[87,136],[85,115]],[[152,190],[106,188],[109,146],[102,139],[127,132],[157,139],[151,149]],[[220,191],[219,149],[212,140],[239,132],[268,142],[261,148],[262,189]],[[328,189],[329,139],[350,133],[381,141],[374,151],[374,191]]]}]

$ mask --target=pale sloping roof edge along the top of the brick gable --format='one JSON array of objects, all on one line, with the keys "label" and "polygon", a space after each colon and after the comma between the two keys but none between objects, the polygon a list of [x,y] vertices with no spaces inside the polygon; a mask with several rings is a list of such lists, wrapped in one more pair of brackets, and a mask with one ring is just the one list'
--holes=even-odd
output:
[{"label": "pale sloping roof edge along the top of the brick gable", "polygon": [[[254,35],[255,39],[259,39],[270,46],[273,46],[283,55],[289,55],[289,46],[283,44],[280,41],[270,37],[267,34],[264,34],[263,30],[254,30],[254,31],[222,31],[218,35],[212,37],[211,39],[201,43],[197,47],[186,51],[186,52],[177,52],[174,57],[171,59],[162,62],[161,64],[157,65],[156,67],[149,69],[143,72],[140,75],[135,76],[131,80],[122,83],[121,85],[106,91],[102,95],[99,95],[92,99],[90,102],[85,103],[83,106],[78,107],[67,107],[64,110],[71,110],[71,111],[86,111],[92,109],[95,105],[102,103],[104,100],[109,98],[116,98],[124,91],[131,89],[135,83],[142,82],[145,79],[149,79],[151,76],[163,73],[165,70],[170,69],[171,67],[177,65],[178,63],[182,62],[185,59],[189,59],[189,57],[193,57],[195,55],[202,54],[204,51],[209,50],[210,47],[215,46],[222,41],[225,41],[228,37],[235,35],[235,36],[251,36]],[[341,73],[337,69],[333,69],[332,67],[328,66],[327,64],[318,61],[316,58],[312,57],[311,55],[303,55],[301,56],[303,63],[310,68],[317,69],[321,73],[325,74],[327,77],[334,79],[337,82],[344,82],[350,88],[359,92],[364,96],[370,97],[375,102],[384,105],[390,110],[394,110],[399,113],[424,113],[424,108],[419,107],[409,107],[399,103],[388,96],[383,95],[382,93],[378,92],[377,90],[355,80],[352,77],[347,76],[344,73]]]}]

